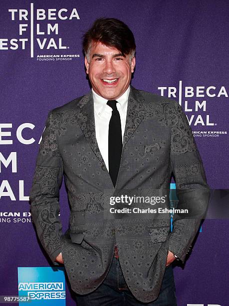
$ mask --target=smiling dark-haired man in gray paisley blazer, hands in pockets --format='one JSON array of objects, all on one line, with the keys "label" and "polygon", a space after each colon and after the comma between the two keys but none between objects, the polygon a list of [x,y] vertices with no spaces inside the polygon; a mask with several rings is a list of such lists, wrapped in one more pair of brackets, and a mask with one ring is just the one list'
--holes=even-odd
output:
[{"label": "smiling dark-haired man in gray paisley blazer, hands in pockets", "polygon": [[[135,40],[122,21],[97,19],[83,47],[92,90],[49,112],[40,143],[30,192],[38,237],[52,262],[64,263],[79,306],[176,305],[171,263],[185,261],[209,199],[191,128],[176,101],[130,85]],[[168,211],[148,209],[170,207],[172,172],[179,207],[192,213],[175,213],[171,231]]]}]

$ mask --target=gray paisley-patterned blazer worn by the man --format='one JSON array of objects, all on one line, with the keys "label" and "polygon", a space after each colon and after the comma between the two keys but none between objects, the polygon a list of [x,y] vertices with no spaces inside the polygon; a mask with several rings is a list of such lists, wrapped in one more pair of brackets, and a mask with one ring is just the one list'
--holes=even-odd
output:
[{"label": "gray paisley-patterned blazer worn by the man", "polygon": [[[96,141],[93,107],[90,92],[49,112],[30,191],[31,215],[53,264],[62,252],[75,292],[92,292],[103,282],[117,243],[128,287],[138,300],[150,302],[159,294],[168,250],[184,262],[205,216],[210,192],[202,160],[182,107],[131,86],[114,188]],[[179,207],[192,210],[189,217],[174,214],[172,232],[170,213],[110,213],[110,196],[121,194],[165,196],[164,207],[170,207],[172,172]],[[70,202],[64,234],[58,216],[63,175]]]}]

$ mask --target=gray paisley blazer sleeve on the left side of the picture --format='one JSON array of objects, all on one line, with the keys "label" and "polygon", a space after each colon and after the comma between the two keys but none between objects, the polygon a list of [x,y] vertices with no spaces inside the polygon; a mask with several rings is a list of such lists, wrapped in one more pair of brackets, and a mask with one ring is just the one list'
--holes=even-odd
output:
[{"label": "gray paisley blazer sleeve on the left side of the picture", "polygon": [[62,224],[59,218],[59,188],[63,162],[58,151],[55,116],[50,111],[42,134],[29,194],[30,212],[38,238],[54,265],[61,252]]}]

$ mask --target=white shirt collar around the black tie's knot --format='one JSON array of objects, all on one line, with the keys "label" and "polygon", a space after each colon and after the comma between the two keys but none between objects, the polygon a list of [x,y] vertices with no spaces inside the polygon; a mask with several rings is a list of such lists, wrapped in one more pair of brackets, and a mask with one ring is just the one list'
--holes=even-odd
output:
[{"label": "white shirt collar around the black tie's knot", "polygon": [[[127,110],[129,92],[130,92],[130,85],[126,89],[126,91],[119,98],[116,99],[116,101],[118,101],[118,103],[120,104],[120,106],[117,105],[118,109],[121,108],[122,111]],[[105,99],[104,97],[97,94],[93,90],[93,88],[92,88],[92,95],[94,100],[94,110],[98,116],[100,116],[103,113],[105,108],[110,112],[112,111],[111,107],[107,105],[108,99]]]}]

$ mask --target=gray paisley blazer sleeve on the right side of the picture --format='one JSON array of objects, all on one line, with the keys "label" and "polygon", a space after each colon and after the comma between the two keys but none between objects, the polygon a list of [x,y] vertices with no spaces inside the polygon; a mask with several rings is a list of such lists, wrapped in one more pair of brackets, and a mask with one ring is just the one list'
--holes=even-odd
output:
[{"label": "gray paisley blazer sleeve on the right side of the picture", "polygon": [[210,197],[202,159],[182,107],[175,102],[171,120],[170,161],[176,180],[178,207],[188,213],[174,213],[169,250],[184,263],[186,254],[205,217]]}]

